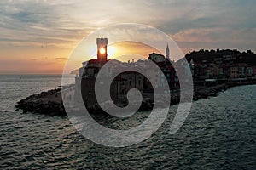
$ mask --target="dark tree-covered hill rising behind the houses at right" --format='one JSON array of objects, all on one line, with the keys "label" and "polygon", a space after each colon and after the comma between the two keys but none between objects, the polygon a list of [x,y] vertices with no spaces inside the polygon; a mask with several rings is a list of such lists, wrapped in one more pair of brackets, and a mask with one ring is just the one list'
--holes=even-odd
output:
[{"label": "dark tree-covered hill rising behind the houses at right", "polygon": [[[223,50],[204,50],[193,51],[189,54],[185,55],[185,58],[190,62],[191,59],[195,63],[212,63],[213,59],[225,59],[231,58],[234,64],[236,63],[246,63],[248,65],[256,65],[256,54],[254,54],[251,50],[247,50],[247,52],[239,52],[236,49],[223,49]],[[226,60],[230,62],[230,60]]]}]

